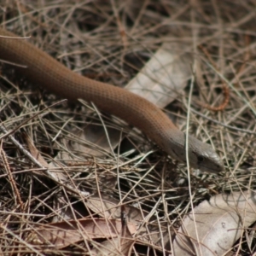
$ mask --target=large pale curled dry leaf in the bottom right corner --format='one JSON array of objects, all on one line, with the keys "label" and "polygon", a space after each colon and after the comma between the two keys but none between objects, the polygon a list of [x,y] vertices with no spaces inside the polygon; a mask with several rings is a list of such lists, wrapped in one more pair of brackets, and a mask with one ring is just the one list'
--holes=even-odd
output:
[{"label": "large pale curled dry leaf in the bottom right corner", "polygon": [[195,218],[190,212],[177,231],[174,255],[223,255],[256,221],[256,195],[249,190],[216,195],[201,202],[194,212]]}]

